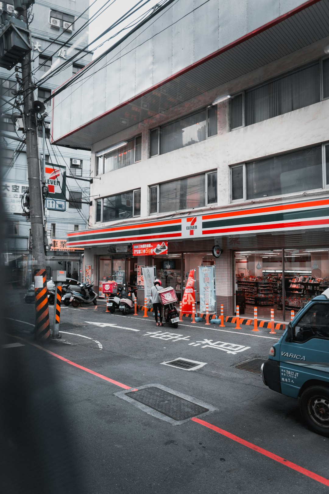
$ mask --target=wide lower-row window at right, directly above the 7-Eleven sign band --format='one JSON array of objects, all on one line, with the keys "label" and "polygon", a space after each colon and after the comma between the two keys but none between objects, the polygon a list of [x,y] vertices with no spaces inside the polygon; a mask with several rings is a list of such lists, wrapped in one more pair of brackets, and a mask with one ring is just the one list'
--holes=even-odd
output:
[{"label": "wide lower-row window at right, directly above the 7-Eleven sign band", "polygon": [[322,146],[232,166],[232,200],[280,196],[323,187]]}]

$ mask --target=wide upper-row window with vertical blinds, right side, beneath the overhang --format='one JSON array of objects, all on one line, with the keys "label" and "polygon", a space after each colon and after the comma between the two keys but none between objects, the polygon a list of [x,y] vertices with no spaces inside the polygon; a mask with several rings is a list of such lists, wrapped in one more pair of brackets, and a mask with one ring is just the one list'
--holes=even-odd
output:
[{"label": "wide upper-row window with vertical blinds, right side, beneath the overhang", "polygon": [[[329,93],[329,69],[324,67],[324,93]],[[329,94],[327,94],[329,95]],[[316,62],[231,99],[231,129],[252,125],[320,101],[320,64]]]}]

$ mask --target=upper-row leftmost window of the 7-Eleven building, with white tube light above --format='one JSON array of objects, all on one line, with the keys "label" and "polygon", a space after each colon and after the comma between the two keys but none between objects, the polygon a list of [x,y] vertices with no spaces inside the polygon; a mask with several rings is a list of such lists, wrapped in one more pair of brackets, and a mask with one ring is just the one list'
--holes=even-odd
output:
[{"label": "upper-row leftmost window of the 7-Eleven building, with white tube light above", "polygon": [[[112,146],[112,147],[115,147]],[[125,166],[133,165],[142,159],[142,136],[137,136],[127,144],[113,149],[113,151],[105,151],[96,155],[96,174],[108,173],[109,171],[124,168]]]}]

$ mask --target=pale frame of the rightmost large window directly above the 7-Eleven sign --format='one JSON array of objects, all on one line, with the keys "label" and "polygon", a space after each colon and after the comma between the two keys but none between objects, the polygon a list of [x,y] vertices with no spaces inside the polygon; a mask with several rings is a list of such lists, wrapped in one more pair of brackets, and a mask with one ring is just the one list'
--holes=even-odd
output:
[{"label": "pale frame of the rightmost large window directly above the 7-Eleven sign", "polygon": [[[326,183],[326,180],[327,180],[327,173],[326,173],[326,146],[329,145],[329,141],[326,141],[326,142],[323,142],[323,143],[319,143],[318,146],[321,145],[322,147],[322,188],[320,189],[308,189],[308,190],[316,190],[316,191],[321,191],[321,190],[325,190],[325,189],[329,189],[329,183],[327,184]],[[261,161],[261,160],[264,160],[264,159],[267,159],[267,158],[272,158],[272,157],[277,157],[277,156],[283,156],[283,155],[287,155],[287,154],[290,154],[290,153],[294,153],[294,152],[297,152],[297,151],[302,151],[302,150],[306,150],[306,149],[310,149],[310,148],[314,148],[316,147],[317,145],[314,145],[312,144],[312,146],[305,146],[305,147],[302,147],[302,148],[297,148],[297,149],[291,149],[289,151],[286,151],[284,153],[278,153],[278,154],[274,154],[274,155],[269,155],[269,156],[265,156],[265,157],[262,157],[262,158],[259,158],[257,160],[253,160],[253,161],[248,161],[248,162],[242,162],[242,163],[236,163],[234,165],[229,165],[229,168],[230,168],[230,176],[229,176],[229,183],[230,183],[230,202],[231,204],[235,204],[235,203],[241,203],[241,202],[255,202],[255,201],[263,201],[263,200],[266,200],[266,199],[275,199],[275,198],[278,198],[278,197],[287,197],[287,196],[297,196],[299,194],[301,194],[301,192],[288,192],[287,194],[279,194],[279,195],[276,195],[276,196],[266,196],[266,197],[259,197],[259,198],[256,198],[256,199],[247,199],[247,181],[246,181],[246,168],[247,168],[247,165],[249,163],[253,163],[253,162],[256,162],[256,161]],[[329,152],[329,150],[328,150]],[[238,166],[242,166],[243,167],[243,198],[241,199],[232,199],[232,186],[233,186],[233,179],[232,179],[232,169],[233,168],[237,168]],[[329,177],[328,177],[329,178]]]}]

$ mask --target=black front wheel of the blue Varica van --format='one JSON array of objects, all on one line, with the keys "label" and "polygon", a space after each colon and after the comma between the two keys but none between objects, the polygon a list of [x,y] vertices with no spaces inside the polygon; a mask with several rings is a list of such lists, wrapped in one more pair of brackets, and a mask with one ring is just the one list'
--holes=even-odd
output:
[{"label": "black front wheel of the blue Varica van", "polygon": [[329,436],[329,388],[310,386],[305,389],[300,397],[299,409],[314,432]]}]

